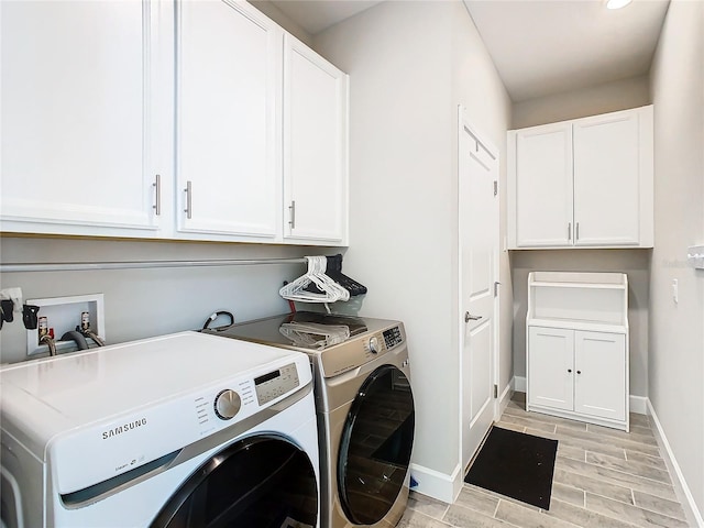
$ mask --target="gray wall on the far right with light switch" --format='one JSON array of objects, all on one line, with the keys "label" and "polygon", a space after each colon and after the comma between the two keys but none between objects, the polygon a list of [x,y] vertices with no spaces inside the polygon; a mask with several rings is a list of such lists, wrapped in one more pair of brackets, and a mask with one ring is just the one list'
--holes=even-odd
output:
[{"label": "gray wall on the far right with light switch", "polygon": [[[649,397],[704,514],[704,2],[670,4],[651,72],[656,243],[650,282]],[[679,302],[672,280],[679,282]],[[704,526],[704,525],[701,525]]]}]

